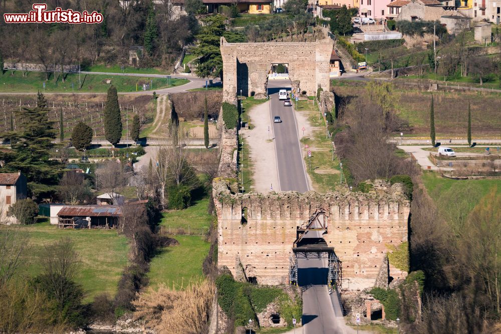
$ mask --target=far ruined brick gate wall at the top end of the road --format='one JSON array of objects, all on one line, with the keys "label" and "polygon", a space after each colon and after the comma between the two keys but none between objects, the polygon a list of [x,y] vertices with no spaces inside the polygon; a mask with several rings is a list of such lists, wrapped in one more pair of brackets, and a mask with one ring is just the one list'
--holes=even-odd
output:
[{"label": "far ruined brick gate wall at the top end of the road", "polygon": [[333,42],[228,43],[221,37],[223,61],[223,101],[236,95],[266,94],[272,63],[289,64],[289,78],[301,82],[301,90],[314,96],[317,87],[329,88],[329,61]]}]

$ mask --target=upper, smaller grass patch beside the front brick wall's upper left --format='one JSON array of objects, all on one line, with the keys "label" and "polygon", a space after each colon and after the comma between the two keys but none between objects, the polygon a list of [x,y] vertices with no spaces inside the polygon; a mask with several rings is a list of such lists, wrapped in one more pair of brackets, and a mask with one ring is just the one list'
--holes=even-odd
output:
[{"label": "upper, smaller grass patch beside the front brick wall's upper left", "polygon": [[207,206],[209,204],[208,198],[203,198],[195,202],[192,206],[184,210],[169,210],[163,212],[162,221],[160,226],[162,226],[166,231],[169,230],[174,232],[178,228],[183,228],[188,232],[188,226],[192,232],[200,233],[202,227],[204,228],[204,233],[207,233],[210,224],[212,223],[212,216],[207,212]]}]

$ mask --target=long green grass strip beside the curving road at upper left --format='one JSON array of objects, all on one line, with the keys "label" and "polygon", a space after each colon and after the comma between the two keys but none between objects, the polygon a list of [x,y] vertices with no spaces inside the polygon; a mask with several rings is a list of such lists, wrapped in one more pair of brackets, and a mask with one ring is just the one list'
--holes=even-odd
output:
[{"label": "long green grass strip beside the curving road at upper left", "polygon": [[[0,91],[2,92],[37,92],[43,93],[104,93],[108,90],[109,84],[107,80],[111,80],[111,84],[115,85],[118,92],[136,92],[142,91],[143,84],[153,83],[150,91],[159,88],[167,87],[167,79],[160,78],[141,78],[141,77],[124,77],[111,75],[81,75],[82,88],[79,89],[79,75],[68,74],[63,83],[61,75],[57,74],[57,81],[54,82],[53,74],[51,73],[48,81],[45,80],[45,73],[29,72],[26,77],[23,77],[21,71],[15,71],[14,75],[8,71],[0,76]],[[43,83],[46,83],[44,89]],[[171,86],[184,85],[188,82],[186,79],[172,79]],[[73,87],[72,87],[73,84]]]}]

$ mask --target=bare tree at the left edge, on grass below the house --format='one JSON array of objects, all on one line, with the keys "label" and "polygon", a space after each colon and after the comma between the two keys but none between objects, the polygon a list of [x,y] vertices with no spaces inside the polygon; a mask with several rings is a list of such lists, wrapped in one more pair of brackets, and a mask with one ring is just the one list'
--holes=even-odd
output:
[{"label": "bare tree at the left edge, on grass below the house", "polygon": [[0,289],[16,273],[27,245],[27,237],[19,227],[0,225]]}]

